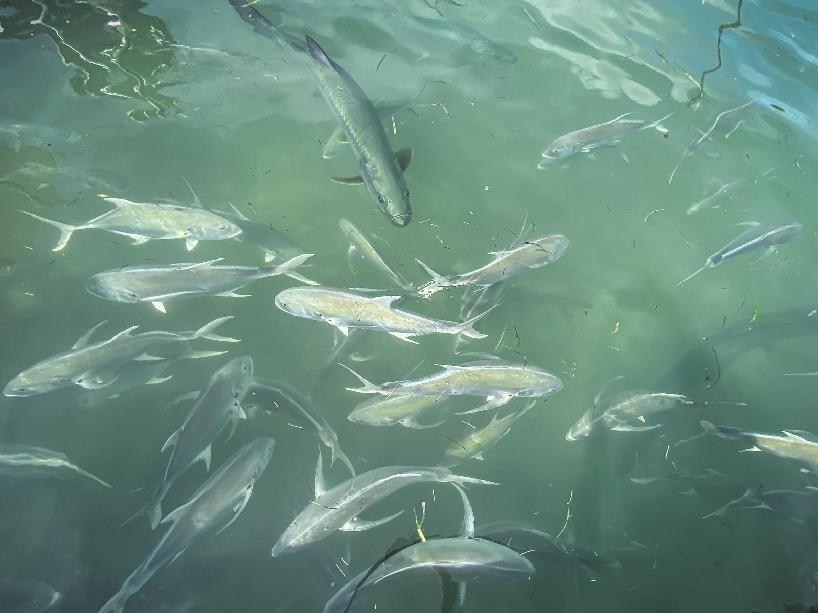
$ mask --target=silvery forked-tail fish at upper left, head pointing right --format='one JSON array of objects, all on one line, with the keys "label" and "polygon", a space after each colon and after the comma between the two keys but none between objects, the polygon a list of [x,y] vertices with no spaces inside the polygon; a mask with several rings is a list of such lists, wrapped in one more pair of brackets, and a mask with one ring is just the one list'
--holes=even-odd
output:
[{"label": "silvery forked-tail fish at upper left, head pointing right", "polygon": [[230,239],[241,232],[232,221],[210,213],[202,208],[182,204],[159,204],[131,202],[121,198],[106,198],[114,205],[108,213],[76,225],[52,221],[28,211],[20,211],[60,229],[60,239],[52,251],[61,251],[77,230],[97,228],[128,236],[133,244],[146,243],[151,239],[185,239],[190,251],[200,240]]}]

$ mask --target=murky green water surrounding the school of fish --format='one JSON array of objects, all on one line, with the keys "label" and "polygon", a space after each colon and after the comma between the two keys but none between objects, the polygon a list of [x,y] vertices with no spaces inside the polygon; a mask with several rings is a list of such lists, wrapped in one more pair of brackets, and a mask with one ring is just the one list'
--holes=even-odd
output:
[{"label": "murky green water surrounding the school of fish", "polygon": [[[563,378],[564,389],[539,401],[483,462],[470,460],[456,472],[501,482],[471,488],[478,526],[523,521],[557,535],[570,514],[564,538],[600,551],[632,540],[655,553],[599,577],[547,566],[523,582],[475,584],[465,611],[784,611],[784,601],[818,604],[808,573],[798,572],[814,554],[814,521],[742,509],[703,520],[730,494],[685,496],[672,484],[629,480],[712,468],[744,487],[818,485],[791,464],[737,454],[737,443],[715,437],[674,447],[700,432],[701,419],[761,432],[818,432],[816,379],[784,377],[818,369],[815,5],[747,0],[740,25],[723,29],[721,62],[719,26],[737,21],[734,2],[406,0],[398,8],[416,29],[394,30],[375,0],[254,7],[291,34],[316,38],[371,99],[411,106],[386,123],[393,150],[414,149],[406,172],[411,224],[391,226],[364,187],[329,181],[356,174],[357,161],[349,152],[321,158],[336,127],[326,102],[313,95],[303,65],[255,34],[227,0],[8,2],[0,7],[3,384],[67,351],[101,320],[109,322],[100,331],[107,338],[137,324],[196,329],[232,315],[219,332],[240,344],[197,341],[196,348],[252,356],[258,376],[312,396],[358,472],[435,465],[450,444],[443,437],[461,436],[468,426],[458,417],[422,431],[348,422],[365,396],[344,391],[355,386],[352,375],[326,364],[333,329],[273,304],[294,281],[259,280],[244,292],[251,298],[169,302],[166,315],[147,304],[106,302],[82,285],[94,272],[128,265],[217,257],[261,265],[251,245],[202,241],[187,253],[181,240],[132,246],[119,235],[79,230],[54,253],[57,230],[17,209],[79,223],[107,210],[101,193],[191,202],[185,177],[207,206],[234,204],[315,253],[302,269],[312,279],[384,289],[387,280],[366,262],[348,266],[340,217],[384,239],[375,244],[389,263],[422,284],[429,277],[415,257],[443,274],[472,270],[488,262],[488,252],[506,248],[528,215],[535,236],[564,234],[571,248],[560,261],[510,281],[500,306],[477,326],[488,338],[469,351],[541,366]],[[413,17],[468,26],[517,59],[458,56],[439,29]],[[698,95],[703,71],[719,63]],[[729,137],[714,136],[668,185],[699,132],[759,97],[784,111],[768,106]],[[647,129],[537,169],[557,136],[625,113],[654,120],[673,112],[666,134]],[[39,174],[20,172],[31,164],[42,165]],[[105,181],[89,180],[89,172]],[[747,181],[721,208],[685,214],[740,179]],[[803,231],[760,262],[750,263],[761,251],[731,258],[674,287],[746,230],[736,226],[746,221],[798,221]],[[430,301],[408,298],[402,307],[457,320],[460,298],[453,289]],[[375,383],[404,378],[421,361],[416,376],[465,361],[443,334],[417,338],[418,345],[364,334],[355,351],[374,359],[344,361]],[[164,530],[151,532],[143,519],[119,525],[145,503],[167,463],[160,449],[187,414],[188,405],[166,406],[200,389],[229,356],[182,360],[166,373],[173,374],[169,382],[92,407],[78,406],[73,390],[3,398],[0,440],[63,452],[115,489],[2,477],[0,583],[43,581],[62,594],[53,611],[97,611]],[[625,377],[618,389],[748,406],[685,408],[660,416],[667,425],[654,431],[566,441],[600,387],[618,376]],[[466,419],[483,425],[492,416]],[[255,414],[227,444],[218,439],[213,467],[256,436],[273,436],[276,450],[236,523],[160,570],[126,611],[321,611],[344,583],[342,571],[351,577],[398,539],[416,538],[411,509],[420,511],[422,501],[427,535],[459,530],[456,493],[414,485],[367,512],[385,517],[406,509],[398,520],[270,557],[312,500],[318,443],[304,426]],[[330,485],[348,477],[339,463],[326,473]],[[184,503],[205,477],[197,464],[164,508]],[[353,611],[438,611],[438,579],[427,579],[375,588]]]}]

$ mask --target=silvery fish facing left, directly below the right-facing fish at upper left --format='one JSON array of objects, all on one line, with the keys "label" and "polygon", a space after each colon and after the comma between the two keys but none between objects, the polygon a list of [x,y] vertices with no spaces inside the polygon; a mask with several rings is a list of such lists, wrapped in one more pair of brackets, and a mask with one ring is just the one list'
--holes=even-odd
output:
[{"label": "silvery fish facing left, directly below the right-facing fish at upper left", "polygon": [[[236,293],[236,289],[265,277],[292,275],[313,255],[304,253],[280,266],[217,264],[222,262],[223,257],[207,262],[120,266],[89,276],[83,281],[83,287],[98,298],[111,302],[150,302],[158,311],[165,313],[164,303],[179,298],[246,298],[249,294]],[[314,281],[309,283],[316,284]]]}]

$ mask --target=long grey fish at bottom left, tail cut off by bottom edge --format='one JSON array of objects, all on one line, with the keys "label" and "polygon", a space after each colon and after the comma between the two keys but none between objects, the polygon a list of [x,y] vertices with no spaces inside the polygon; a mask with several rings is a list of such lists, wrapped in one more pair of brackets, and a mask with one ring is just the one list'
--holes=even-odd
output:
[{"label": "long grey fish at bottom left, tail cut off by bottom edge", "polygon": [[168,530],[99,613],[122,613],[128,598],[137,593],[160,568],[173,562],[222,521],[227,520],[227,523],[219,532],[236,521],[249,502],[253,485],[267,468],[274,445],[272,438],[267,436],[249,442],[227,459],[187,503],[165,517],[162,523],[169,524]]}]

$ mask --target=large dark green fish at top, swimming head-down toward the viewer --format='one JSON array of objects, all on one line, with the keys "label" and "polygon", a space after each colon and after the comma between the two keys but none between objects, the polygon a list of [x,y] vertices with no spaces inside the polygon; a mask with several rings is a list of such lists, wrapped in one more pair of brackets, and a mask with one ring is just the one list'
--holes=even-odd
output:
[{"label": "large dark green fish at top, swimming head-down toward the viewer", "polygon": [[375,106],[361,87],[337,65],[311,37],[306,44],[285,33],[244,0],[230,0],[241,19],[258,34],[272,38],[293,52],[309,71],[321,96],[335,114],[358,160],[361,174],[332,177],[337,183],[366,185],[375,203],[393,226],[406,227],[411,221],[409,188],[403,172],[412,158],[411,147],[393,153]]}]

